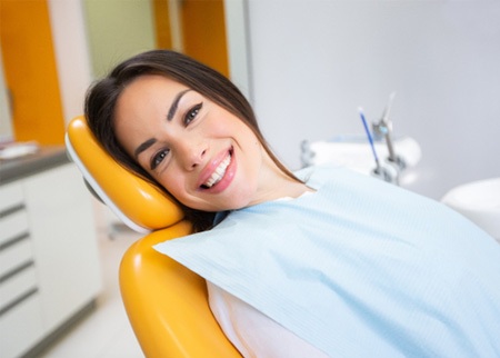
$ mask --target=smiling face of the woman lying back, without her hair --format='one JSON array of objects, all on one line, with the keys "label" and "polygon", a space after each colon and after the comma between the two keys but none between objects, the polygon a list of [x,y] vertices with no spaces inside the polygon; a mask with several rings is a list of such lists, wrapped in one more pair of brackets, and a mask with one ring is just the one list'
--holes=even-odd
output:
[{"label": "smiling face of the woman lying back, without her hair", "polygon": [[114,120],[127,152],[183,205],[220,211],[266,200],[272,165],[262,145],[194,90],[162,76],[140,77],[120,95]]}]

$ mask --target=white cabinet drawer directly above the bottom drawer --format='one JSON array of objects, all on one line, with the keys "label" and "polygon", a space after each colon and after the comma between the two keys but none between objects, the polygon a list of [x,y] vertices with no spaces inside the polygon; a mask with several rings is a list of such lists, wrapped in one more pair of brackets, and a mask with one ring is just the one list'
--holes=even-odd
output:
[{"label": "white cabinet drawer directly above the bottom drawer", "polygon": [[16,307],[21,298],[36,289],[37,272],[33,265],[0,281],[0,312],[7,311],[9,307]]}]

